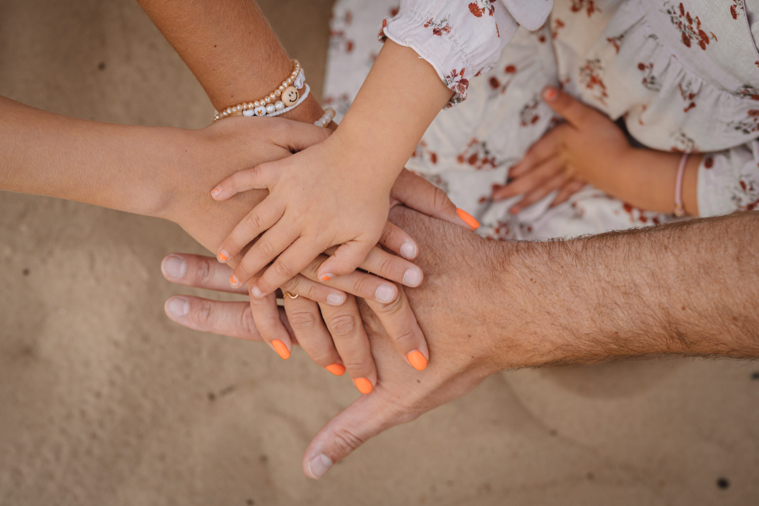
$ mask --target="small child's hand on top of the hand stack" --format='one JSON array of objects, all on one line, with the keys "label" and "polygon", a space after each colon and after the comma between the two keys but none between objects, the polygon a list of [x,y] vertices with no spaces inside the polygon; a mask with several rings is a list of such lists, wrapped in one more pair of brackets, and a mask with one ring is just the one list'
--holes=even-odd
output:
[{"label": "small child's hand on top of the hand stack", "polygon": [[376,172],[359,165],[361,156],[342,146],[336,135],[329,139],[278,162],[232,174],[213,190],[214,199],[226,200],[240,191],[269,189],[269,196],[219,250],[220,260],[231,259],[263,232],[235,268],[233,287],[276,258],[250,290],[254,297],[265,297],[324,250],[339,246],[320,268],[320,279],[329,281],[353,272],[377,244],[395,176],[393,181],[377,181]]}]

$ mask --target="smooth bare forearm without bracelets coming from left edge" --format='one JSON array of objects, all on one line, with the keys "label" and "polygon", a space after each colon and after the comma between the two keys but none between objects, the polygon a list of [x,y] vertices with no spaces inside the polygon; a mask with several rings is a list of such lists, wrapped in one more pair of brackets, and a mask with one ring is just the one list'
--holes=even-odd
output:
[{"label": "smooth bare forearm without bracelets coming from left edge", "polygon": [[86,121],[0,97],[0,190],[143,215],[167,205],[184,132]]}]

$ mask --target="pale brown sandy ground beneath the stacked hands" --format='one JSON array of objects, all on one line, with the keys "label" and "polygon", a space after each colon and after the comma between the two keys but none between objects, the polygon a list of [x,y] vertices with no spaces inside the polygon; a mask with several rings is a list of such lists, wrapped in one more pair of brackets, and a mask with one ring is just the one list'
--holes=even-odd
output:
[{"label": "pale brown sandy ground beneath the stacked hands", "polygon": [[[298,13],[276,28],[318,92],[329,0],[263,3]],[[130,0],[0,0],[0,94],[131,124],[212,110]],[[302,451],[357,392],[170,322],[190,291],[159,262],[200,250],[158,219],[0,193],[0,504],[759,504],[759,365],[729,361],[504,372],[313,482]]]}]

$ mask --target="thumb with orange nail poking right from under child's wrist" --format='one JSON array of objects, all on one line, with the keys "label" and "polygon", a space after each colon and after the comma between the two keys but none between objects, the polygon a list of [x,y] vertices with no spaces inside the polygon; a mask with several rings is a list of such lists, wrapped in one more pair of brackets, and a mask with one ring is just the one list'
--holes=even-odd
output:
[{"label": "thumb with orange nail poking right from under child's wrist", "polygon": [[392,186],[390,196],[398,203],[422,214],[442,219],[444,222],[453,225],[463,226],[467,230],[477,228],[461,218],[461,214],[458,213],[458,209],[448,198],[446,192],[421,176],[408,171],[408,169],[404,168],[401,174],[398,174],[398,179]]}]

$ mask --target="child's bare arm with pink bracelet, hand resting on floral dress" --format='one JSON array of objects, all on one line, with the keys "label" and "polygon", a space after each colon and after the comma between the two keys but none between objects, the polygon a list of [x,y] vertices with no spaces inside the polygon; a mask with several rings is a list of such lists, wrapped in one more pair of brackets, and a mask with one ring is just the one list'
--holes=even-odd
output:
[{"label": "child's bare arm with pink bracelet, hand resting on floral dress", "polygon": [[[509,171],[512,181],[493,192],[493,199],[524,194],[511,209],[516,213],[558,188],[551,203],[556,206],[587,182],[640,209],[675,210],[682,153],[633,148],[613,121],[567,93],[546,88],[543,99],[567,122],[531,147]],[[685,165],[682,202],[688,215],[698,215],[696,184],[702,158],[691,155]]]}]

